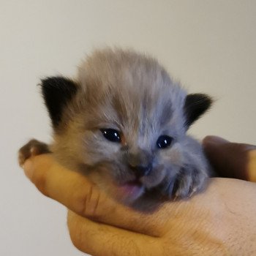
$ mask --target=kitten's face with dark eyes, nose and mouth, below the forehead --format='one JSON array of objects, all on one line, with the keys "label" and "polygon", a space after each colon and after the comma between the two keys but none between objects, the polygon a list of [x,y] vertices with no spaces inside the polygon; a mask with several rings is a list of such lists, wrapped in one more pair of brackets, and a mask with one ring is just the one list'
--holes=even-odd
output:
[{"label": "kitten's face with dark eyes, nose and mouth, below the forehead", "polygon": [[154,105],[135,99],[133,108],[116,97],[108,103],[99,101],[94,111],[81,111],[58,141],[69,141],[67,148],[79,156],[69,162],[79,163],[79,170],[87,170],[100,187],[127,202],[176,176],[183,160],[184,126],[178,125],[182,114],[181,120],[173,120],[170,101],[161,102],[164,95]]}]

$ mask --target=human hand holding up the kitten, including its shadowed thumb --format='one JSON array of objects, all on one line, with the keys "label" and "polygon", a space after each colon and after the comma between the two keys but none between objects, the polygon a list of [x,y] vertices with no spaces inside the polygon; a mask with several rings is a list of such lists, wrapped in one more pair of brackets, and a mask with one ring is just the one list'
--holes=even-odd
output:
[{"label": "human hand holding up the kitten, including its shadowed thumb", "polygon": [[[204,140],[218,174],[189,200],[142,213],[111,200],[50,154],[27,159],[26,176],[67,206],[73,244],[91,255],[256,255],[256,147]],[[246,181],[235,178],[242,178]]]}]

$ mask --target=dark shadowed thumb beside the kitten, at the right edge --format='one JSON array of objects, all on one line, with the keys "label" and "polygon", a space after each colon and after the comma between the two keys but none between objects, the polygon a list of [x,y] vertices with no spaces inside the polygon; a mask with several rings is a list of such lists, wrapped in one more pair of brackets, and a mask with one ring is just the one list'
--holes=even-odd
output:
[{"label": "dark shadowed thumb beside the kitten, at the right edge", "polygon": [[256,149],[256,146],[230,143],[216,136],[207,136],[203,146],[211,165],[220,176],[249,180],[249,151]]}]

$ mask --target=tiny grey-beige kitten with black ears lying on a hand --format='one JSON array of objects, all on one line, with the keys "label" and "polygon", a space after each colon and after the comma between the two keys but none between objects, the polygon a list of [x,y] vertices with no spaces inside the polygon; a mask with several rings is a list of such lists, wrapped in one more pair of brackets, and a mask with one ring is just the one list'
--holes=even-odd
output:
[{"label": "tiny grey-beige kitten with black ears lying on a hand", "polygon": [[[189,197],[206,184],[209,167],[187,129],[211,106],[187,94],[155,59],[131,50],[95,51],[77,80],[42,80],[53,144],[31,140],[20,162],[53,152],[125,204],[145,198]],[[144,198],[144,199],[143,199]]]}]

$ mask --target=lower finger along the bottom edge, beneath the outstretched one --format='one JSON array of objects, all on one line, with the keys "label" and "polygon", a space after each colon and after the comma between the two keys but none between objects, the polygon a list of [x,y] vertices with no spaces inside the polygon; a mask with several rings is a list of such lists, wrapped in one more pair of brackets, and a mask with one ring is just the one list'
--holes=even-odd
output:
[{"label": "lower finger along the bottom edge, beneath the outstretched one", "polygon": [[72,243],[90,255],[164,255],[160,238],[93,222],[71,211],[67,225]]}]

